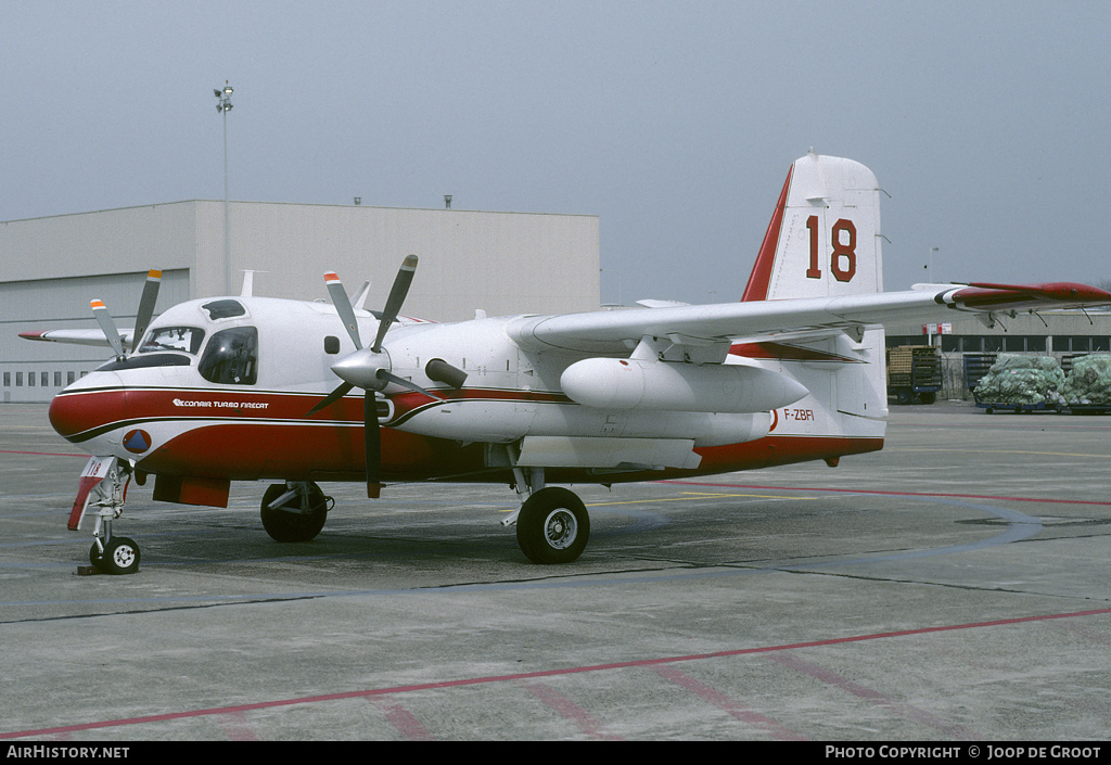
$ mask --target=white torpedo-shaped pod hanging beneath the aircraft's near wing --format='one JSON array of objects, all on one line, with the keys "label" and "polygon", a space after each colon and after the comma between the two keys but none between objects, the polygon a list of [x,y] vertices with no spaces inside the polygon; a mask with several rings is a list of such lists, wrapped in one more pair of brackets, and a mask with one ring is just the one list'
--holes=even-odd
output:
[{"label": "white torpedo-shaped pod hanging beneath the aircraft's near wing", "polygon": [[563,393],[600,409],[752,413],[788,406],[809,390],[760,367],[590,358],[569,366]]}]

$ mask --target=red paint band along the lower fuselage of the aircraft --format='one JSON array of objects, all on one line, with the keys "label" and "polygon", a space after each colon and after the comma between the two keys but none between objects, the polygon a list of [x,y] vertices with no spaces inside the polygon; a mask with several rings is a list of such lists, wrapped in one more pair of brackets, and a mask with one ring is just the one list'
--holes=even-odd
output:
[{"label": "red paint band along the lower fuselage of the aircraft", "polygon": [[[533,400],[568,404],[562,395],[518,390],[446,393],[453,400]],[[156,443],[137,457],[141,470],[231,480],[361,480],[366,476],[362,400],[343,398],[306,416],[319,394],[240,393],[189,389],[106,389],[71,391],[56,397],[51,424],[69,440],[142,424],[174,423],[186,430]],[[392,397],[396,411],[436,406],[421,394]],[[194,423],[193,427],[189,424]],[[551,483],[625,483],[703,476],[787,465],[881,449],[882,438],[770,435],[754,441],[698,448],[701,465],[693,470],[591,474],[582,469],[549,470]],[[458,478],[504,480],[504,470],[489,471],[483,447],[382,428],[382,473],[388,480]]]}]

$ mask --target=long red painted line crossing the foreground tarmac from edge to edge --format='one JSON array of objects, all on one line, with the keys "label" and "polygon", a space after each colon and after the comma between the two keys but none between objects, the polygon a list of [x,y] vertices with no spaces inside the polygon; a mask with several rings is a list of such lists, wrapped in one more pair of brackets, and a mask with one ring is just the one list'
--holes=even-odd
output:
[{"label": "long red painted line crossing the foreground tarmac from edge to edge", "polygon": [[416,685],[398,685],[389,688],[370,688],[367,691],[348,691],[336,694],[322,694],[319,696],[281,698],[269,702],[254,702],[252,704],[237,704],[234,706],[212,707],[208,709],[189,709],[186,712],[169,712],[161,715],[146,715],[141,717],[106,719],[94,723],[78,723],[76,725],[61,725],[52,728],[36,728],[31,731],[10,731],[7,733],[0,733],[0,739],[26,738],[29,736],[48,736],[48,735],[56,735],[59,733],[68,733],[72,731],[96,731],[99,728],[121,727],[124,725],[162,723],[173,719],[188,719],[191,717],[206,717],[209,715],[228,715],[238,712],[251,712],[253,709],[274,709],[283,706],[297,706],[300,704],[318,704],[320,702],[336,702],[347,698],[373,698],[377,696],[389,696],[394,694],[414,693],[420,691],[459,688],[471,685],[506,683],[510,680],[529,680],[541,677],[558,677],[561,675],[578,675],[590,672],[603,672],[607,669],[625,669],[629,667],[653,667],[663,664],[678,664],[681,662],[698,662],[711,658],[729,658],[732,656],[770,654],[778,650],[818,648],[821,646],[843,645],[849,643],[864,643],[868,640],[880,640],[893,637],[911,637],[914,635],[929,635],[931,633],[959,632],[962,629],[982,629],[987,627],[1002,627],[1015,624],[1029,624],[1033,622],[1049,622],[1052,619],[1074,619],[1084,616],[1107,616],[1107,615],[1111,615],[1111,608],[1093,608],[1092,610],[1078,610],[1068,614],[1043,614],[1040,616],[1019,616],[1010,619],[994,619],[991,622],[973,622],[969,624],[943,625],[940,627],[920,627],[918,629],[899,629],[888,633],[872,633],[869,635],[851,635],[849,637],[834,637],[825,640],[809,640],[807,643],[789,643],[784,645],[774,645],[774,646],[757,646],[754,648],[735,648],[733,650],[718,650],[709,654],[691,654],[688,656],[663,656],[659,658],[637,659],[632,662],[613,662],[610,664],[594,664],[583,667],[564,667],[562,669],[540,669],[537,672],[526,672],[512,675],[493,675],[490,677],[464,677],[457,680],[443,680],[439,683],[419,683]]}]

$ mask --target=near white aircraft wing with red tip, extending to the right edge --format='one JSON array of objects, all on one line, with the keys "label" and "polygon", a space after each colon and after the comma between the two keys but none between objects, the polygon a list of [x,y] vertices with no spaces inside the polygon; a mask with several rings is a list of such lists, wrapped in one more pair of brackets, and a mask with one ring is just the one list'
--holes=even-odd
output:
[{"label": "near white aircraft wing with red tip, extending to the right edge", "polygon": [[779,338],[858,331],[869,326],[940,321],[953,311],[984,316],[1111,304],[1111,292],[1071,282],[1041,285],[919,285],[913,290],[830,298],[754,300],[705,306],[533,316],[509,327],[528,350],[597,354],[631,350],[645,337],[709,346],[738,338]]}]

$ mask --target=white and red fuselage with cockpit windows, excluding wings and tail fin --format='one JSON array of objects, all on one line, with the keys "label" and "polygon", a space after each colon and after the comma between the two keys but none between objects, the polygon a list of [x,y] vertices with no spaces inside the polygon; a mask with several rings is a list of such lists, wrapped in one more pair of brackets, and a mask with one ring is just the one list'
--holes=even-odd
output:
[{"label": "white and red fuselage with cockpit windows, excluding wings and tail fin", "polygon": [[[373,336],[374,316],[357,311],[357,318],[362,335]],[[522,349],[512,334],[527,321],[402,319],[390,329],[387,346],[403,348],[390,358],[393,374],[436,398],[394,385],[379,394],[383,478],[507,480],[509,464],[499,447],[522,439],[540,450],[531,456],[541,460],[538,465],[547,460],[549,480],[589,483],[720,473],[882,446],[882,423],[868,434],[839,436],[824,421],[831,413],[809,399],[750,413],[584,406],[563,393],[561,378],[592,355]],[[129,358],[110,361],[63,390],[50,407],[50,420],[90,454],[131,460],[138,471],[157,476],[360,480],[366,475],[362,393],[307,414],[338,383],[331,366],[354,351],[328,304],[193,300],[152,322]],[[629,349],[613,348],[614,358],[621,351]],[[428,377],[432,359],[466,371],[466,383],[454,388]],[[743,362],[760,368],[758,361]],[[792,397],[798,396],[785,396]],[[581,444],[604,449],[617,439],[641,447],[642,458],[634,450],[613,465],[604,455],[577,461]],[[672,454],[669,445],[681,443],[698,457]]]}]

